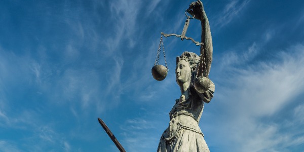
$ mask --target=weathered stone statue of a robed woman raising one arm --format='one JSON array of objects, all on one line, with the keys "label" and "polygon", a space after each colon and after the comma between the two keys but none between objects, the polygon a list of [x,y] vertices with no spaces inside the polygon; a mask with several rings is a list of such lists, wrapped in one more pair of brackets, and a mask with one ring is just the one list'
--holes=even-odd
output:
[{"label": "weathered stone statue of a robed woman raising one arm", "polygon": [[[181,96],[169,112],[169,127],[161,136],[159,152],[209,151],[204,135],[199,128],[204,102],[209,103],[214,93],[214,84],[208,78],[212,62],[212,38],[209,21],[201,1],[193,2],[187,10],[201,21],[201,55],[183,52],[176,58],[176,82]],[[203,64],[200,62],[203,61]],[[200,88],[206,88],[205,90]]]}]

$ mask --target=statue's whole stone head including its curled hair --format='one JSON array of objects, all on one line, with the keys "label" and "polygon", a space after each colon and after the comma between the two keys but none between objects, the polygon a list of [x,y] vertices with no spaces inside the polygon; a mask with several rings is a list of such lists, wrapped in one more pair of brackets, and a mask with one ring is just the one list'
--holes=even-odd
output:
[{"label": "statue's whole stone head including its curled hair", "polygon": [[176,57],[175,76],[178,85],[190,83],[196,74],[197,64],[200,57],[192,52],[183,52]]}]

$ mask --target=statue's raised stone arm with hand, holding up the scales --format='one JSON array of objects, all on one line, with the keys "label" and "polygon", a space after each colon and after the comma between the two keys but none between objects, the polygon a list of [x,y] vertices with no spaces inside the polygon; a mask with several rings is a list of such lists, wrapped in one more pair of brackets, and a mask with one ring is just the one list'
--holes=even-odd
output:
[{"label": "statue's raised stone arm with hand, holding up the scales", "polygon": [[211,31],[210,31],[210,25],[209,21],[206,15],[206,12],[204,10],[203,3],[199,0],[197,2],[191,3],[189,8],[187,9],[187,12],[194,16],[196,19],[201,21],[202,25],[202,35],[201,35],[201,42],[203,43],[201,45],[201,57],[204,57],[205,63],[199,64],[198,66],[198,76],[204,76],[208,77],[210,68],[211,68],[211,62],[212,62],[212,37],[211,37]]}]

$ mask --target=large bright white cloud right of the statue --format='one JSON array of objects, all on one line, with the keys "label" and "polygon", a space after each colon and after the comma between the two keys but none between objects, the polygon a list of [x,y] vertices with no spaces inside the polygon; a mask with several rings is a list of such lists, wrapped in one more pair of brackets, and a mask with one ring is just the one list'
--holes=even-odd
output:
[{"label": "large bright white cloud right of the statue", "polygon": [[216,101],[213,100],[217,102],[213,104],[218,106],[220,120],[212,129],[213,139],[221,141],[211,143],[225,144],[234,151],[288,151],[289,146],[301,143],[304,137],[300,135],[304,131],[290,124],[304,125],[303,122],[282,123],[272,119],[283,119],[290,112],[296,118],[303,114],[302,106],[294,111],[284,108],[300,102],[295,97],[304,90],[302,65],[304,46],[296,45],[278,53],[274,60],[235,69],[229,77],[222,75],[225,83],[217,87]]}]

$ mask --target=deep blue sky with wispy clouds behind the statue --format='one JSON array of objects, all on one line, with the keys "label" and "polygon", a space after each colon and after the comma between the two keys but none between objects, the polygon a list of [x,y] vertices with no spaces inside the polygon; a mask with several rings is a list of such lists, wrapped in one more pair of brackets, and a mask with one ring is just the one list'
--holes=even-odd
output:
[{"label": "deep blue sky with wispy clouds behind the statue", "polygon": [[[0,151],[156,151],[179,87],[175,57],[151,67],[160,32],[180,34],[192,1],[1,1]],[[203,1],[214,98],[200,127],[211,151],[304,149],[304,1]],[[187,36],[200,41],[200,22]],[[163,58],[161,58],[162,60]],[[162,60],[163,62],[163,60]]]}]

